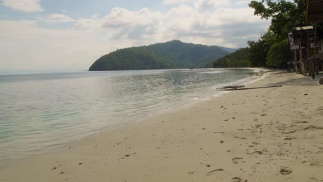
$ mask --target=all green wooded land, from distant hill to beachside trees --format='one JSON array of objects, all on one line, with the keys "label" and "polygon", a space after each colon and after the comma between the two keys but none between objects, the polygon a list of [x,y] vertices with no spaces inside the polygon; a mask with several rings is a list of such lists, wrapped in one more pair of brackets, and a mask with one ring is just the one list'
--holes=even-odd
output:
[{"label": "all green wooded land, from distant hill to beachside trees", "polygon": [[[247,48],[233,52],[219,46],[173,40],[110,52],[97,59],[89,70],[284,68],[288,61],[293,60],[293,55],[288,50],[288,32],[297,26],[308,26],[306,23],[307,0],[251,1],[249,7],[262,19],[271,19],[271,26],[260,39],[248,41]],[[230,52],[232,53],[229,54]]]}]

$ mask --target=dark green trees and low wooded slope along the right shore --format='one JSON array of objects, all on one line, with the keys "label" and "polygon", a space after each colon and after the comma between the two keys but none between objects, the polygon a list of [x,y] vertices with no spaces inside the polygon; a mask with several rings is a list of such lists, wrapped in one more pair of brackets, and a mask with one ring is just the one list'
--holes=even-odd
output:
[{"label": "dark green trees and low wooded slope along the right shore", "polygon": [[257,41],[248,41],[243,48],[213,62],[219,67],[283,68],[293,59],[288,51],[287,34],[296,26],[306,26],[306,0],[251,1],[249,7],[262,19],[271,19],[268,32]]}]

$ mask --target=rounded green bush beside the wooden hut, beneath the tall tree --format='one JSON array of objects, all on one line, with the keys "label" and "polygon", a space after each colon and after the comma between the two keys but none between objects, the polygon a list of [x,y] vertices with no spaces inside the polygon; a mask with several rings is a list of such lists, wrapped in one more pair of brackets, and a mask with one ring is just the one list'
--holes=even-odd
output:
[{"label": "rounded green bush beside the wooden hut, beneath the tall tree", "polygon": [[267,54],[266,64],[271,67],[281,68],[288,59],[292,59],[292,55],[288,51],[288,39],[286,39],[271,46]]}]

